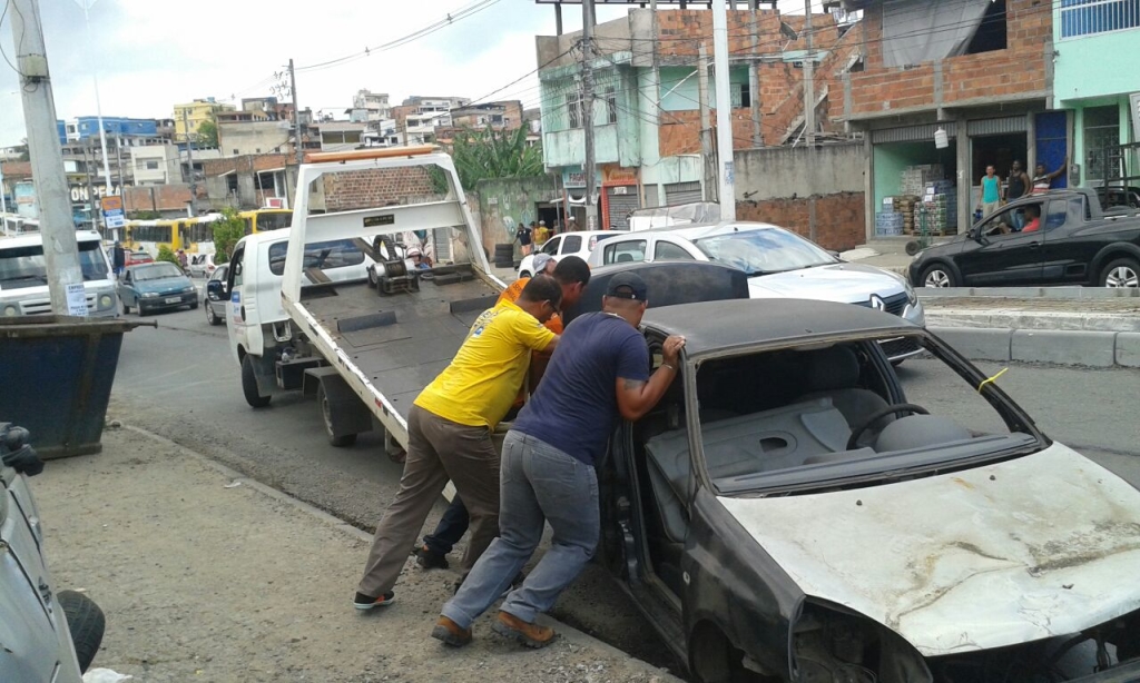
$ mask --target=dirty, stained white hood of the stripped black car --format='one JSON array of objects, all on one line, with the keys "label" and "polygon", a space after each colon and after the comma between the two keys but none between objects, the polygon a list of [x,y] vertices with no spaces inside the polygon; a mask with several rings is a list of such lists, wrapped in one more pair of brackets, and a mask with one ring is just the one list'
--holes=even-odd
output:
[{"label": "dirty, stained white hood of the stripped black car", "polygon": [[897,484],[719,500],[804,593],[927,657],[1077,633],[1140,608],[1140,492],[1060,444]]}]

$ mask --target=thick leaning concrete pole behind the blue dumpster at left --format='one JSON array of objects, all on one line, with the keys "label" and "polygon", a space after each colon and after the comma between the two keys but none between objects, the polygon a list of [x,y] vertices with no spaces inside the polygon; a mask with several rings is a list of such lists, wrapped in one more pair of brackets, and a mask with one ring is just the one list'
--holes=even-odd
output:
[{"label": "thick leaning concrete pole behind the blue dumpster at left", "polygon": [[[56,105],[48,72],[48,51],[43,44],[38,0],[11,0],[11,34],[19,69],[27,153],[32,162],[36,201],[40,204],[40,232],[48,268],[51,311],[67,315],[67,289],[83,291],[83,271],[79,265],[79,242],[72,223],[71,195],[64,174],[64,155],[56,130]],[[82,295],[82,315],[87,315],[87,295]],[[80,306],[76,306],[76,313]]]}]

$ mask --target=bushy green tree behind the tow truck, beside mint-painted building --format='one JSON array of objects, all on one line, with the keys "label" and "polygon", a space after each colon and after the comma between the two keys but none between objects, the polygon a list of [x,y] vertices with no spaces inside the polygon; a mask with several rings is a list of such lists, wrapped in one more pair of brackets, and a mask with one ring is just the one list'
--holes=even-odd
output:
[{"label": "bushy green tree behind the tow truck, beside mint-painted building", "polygon": [[451,158],[464,188],[473,188],[486,178],[534,178],[545,171],[542,150],[527,145],[526,126],[465,130],[455,137]]}]

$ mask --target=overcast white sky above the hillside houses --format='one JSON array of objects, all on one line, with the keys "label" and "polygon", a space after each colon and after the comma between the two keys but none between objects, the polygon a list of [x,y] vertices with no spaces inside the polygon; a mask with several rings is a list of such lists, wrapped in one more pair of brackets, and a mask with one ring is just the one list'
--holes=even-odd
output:
[{"label": "overcast white sky above the hillside houses", "polygon": [[[554,34],[552,6],[498,0],[408,44],[304,69],[406,36],[488,0],[98,0],[90,5],[90,39],[83,1],[39,0],[60,120],[95,115],[96,71],[104,116],[169,118],[176,104],[195,98],[235,98],[237,105],[243,97],[270,94],[279,82],[274,73],[290,58],[298,66],[301,107],[339,118],[361,88],[388,92],[393,104],[410,94],[481,98],[535,69],[535,35]],[[0,0],[0,7],[6,3]],[[801,1],[781,6],[803,11]],[[601,6],[597,18],[625,13],[625,7]],[[10,19],[0,23],[0,47],[15,61]],[[580,28],[580,6],[564,6],[563,19],[565,31]],[[527,77],[494,99],[537,106],[538,81]],[[0,147],[25,137],[18,77],[0,60]]]}]

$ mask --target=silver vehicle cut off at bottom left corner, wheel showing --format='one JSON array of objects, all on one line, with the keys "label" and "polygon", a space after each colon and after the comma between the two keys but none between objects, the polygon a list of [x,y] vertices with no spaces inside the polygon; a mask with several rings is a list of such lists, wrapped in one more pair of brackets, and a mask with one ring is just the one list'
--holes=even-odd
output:
[{"label": "silver vehicle cut off at bottom left corner, wheel showing", "polygon": [[56,592],[26,479],[43,463],[27,438],[0,422],[0,680],[79,683],[99,651],[104,617],[87,595]]}]

